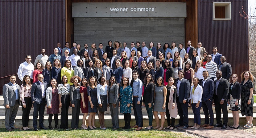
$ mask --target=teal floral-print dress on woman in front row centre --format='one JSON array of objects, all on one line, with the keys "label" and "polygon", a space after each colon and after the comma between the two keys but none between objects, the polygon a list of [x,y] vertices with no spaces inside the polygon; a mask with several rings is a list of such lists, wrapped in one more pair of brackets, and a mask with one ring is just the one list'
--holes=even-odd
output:
[{"label": "teal floral-print dress on woman in front row centre", "polygon": [[[127,86],[123,89],[120,86],[119,88],[120,113],[132,113],[132,87]],[[127,107],[128,103],[130,103],[130,107]]]}]

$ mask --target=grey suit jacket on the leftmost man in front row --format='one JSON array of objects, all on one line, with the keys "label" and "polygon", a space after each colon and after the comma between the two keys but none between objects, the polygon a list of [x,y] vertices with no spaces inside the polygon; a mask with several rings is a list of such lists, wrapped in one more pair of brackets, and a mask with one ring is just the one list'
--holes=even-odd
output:
[{"label": "grey suit jacket on the leftmost man in front row", "polygon": [[[16,87],[17,87],[18,95],[19,95],[20,86],[17,83],[16,83]],[[8,104],[10,106],[15,105],[16,93],[14,91],[14,87],[12,86],[11,82],[9,82],[3,86],[3,98],[4,98],[4,104],[3,104],[4,106],[8,105]],[[18,100],[19,100],[19,105],[20,105],[20,96],[18,96]]]}]

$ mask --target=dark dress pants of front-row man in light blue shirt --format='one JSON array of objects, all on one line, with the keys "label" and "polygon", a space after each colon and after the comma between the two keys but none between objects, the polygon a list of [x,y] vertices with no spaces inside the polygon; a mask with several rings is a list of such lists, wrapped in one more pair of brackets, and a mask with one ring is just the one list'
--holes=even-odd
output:
[{"label": "dark dress pants of front-row man in light blue shirt", "polygon": [[138,125],[138,127],[142,127],[143,126],[142,111],[141,111],[142,99],[140,100],[140,104],[137,104],[137,102],[138,102],[138,97],[134,97],[132,99],[134,117],[136,120],[136,125]]}]

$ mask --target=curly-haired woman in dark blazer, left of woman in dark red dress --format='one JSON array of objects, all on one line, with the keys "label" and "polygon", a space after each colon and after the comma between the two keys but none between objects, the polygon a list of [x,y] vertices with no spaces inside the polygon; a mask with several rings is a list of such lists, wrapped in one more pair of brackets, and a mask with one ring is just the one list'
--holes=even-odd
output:
[{"label": "curly-haired woman in dark blazer, left of woman in dark red dress", "polygon": [[79,123],[79,114],[81,107],[81,94],[80,94],[80,86],[79,82],[81,82],[81,78],[78,76],[73,76],[70,79],[70,82],[74,83],[69,88],[70,102],[72,106],[72,119],[71,119],[71,128],[78,128]]}]

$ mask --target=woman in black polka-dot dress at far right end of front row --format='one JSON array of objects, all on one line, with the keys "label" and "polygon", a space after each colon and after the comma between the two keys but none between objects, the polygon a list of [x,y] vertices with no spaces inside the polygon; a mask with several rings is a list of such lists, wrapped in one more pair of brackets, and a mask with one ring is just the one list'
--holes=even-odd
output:
[{"label": "woman in black polka-dot dress at far right end of front row", "polygon": [[252,128],[253,119],[253,77],[249,71],[244,71],[241,74],[241,113],[242,116],[245,115],[247,124],[244,125],[245,128]]}]

